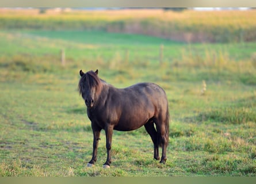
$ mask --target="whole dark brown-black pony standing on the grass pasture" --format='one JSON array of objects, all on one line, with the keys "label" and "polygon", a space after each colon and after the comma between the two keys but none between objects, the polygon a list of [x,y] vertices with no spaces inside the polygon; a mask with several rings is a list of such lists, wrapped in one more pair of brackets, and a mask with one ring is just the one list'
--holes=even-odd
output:
[{"label": "whole dark brown-black pony standing on the grass pasture", "polygon": [[98,70],[86,73],[80,70],[79,73],[79,93],[85,100],[87,115],[93,129],[93,157],[87,166],[93,166],[97,160],[98,141],[102,129],[106,133],[106,168],[110,167],[111,163],[113,129],[133,131],[143,125],[154,143],[154,159],[160,159],[158,147],[162,146],[160,163],[165,163],[170,120],[165,91],[154,83],[137,83],[124,89],[117,89],[101,80],[98,77]]}]

